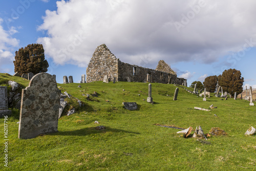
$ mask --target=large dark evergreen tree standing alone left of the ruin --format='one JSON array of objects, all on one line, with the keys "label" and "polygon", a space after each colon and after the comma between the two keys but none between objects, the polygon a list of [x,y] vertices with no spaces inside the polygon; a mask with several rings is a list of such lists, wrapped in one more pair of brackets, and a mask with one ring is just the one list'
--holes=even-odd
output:
[{"label": "large dark evergreen tree standing alone left of the ruin", "polygon": [[28,45],[15,52],[14,72],[20,75],[32,72],[38,74],[47,72],[49,64],[45,59],[45,50],[41,44]]}]

